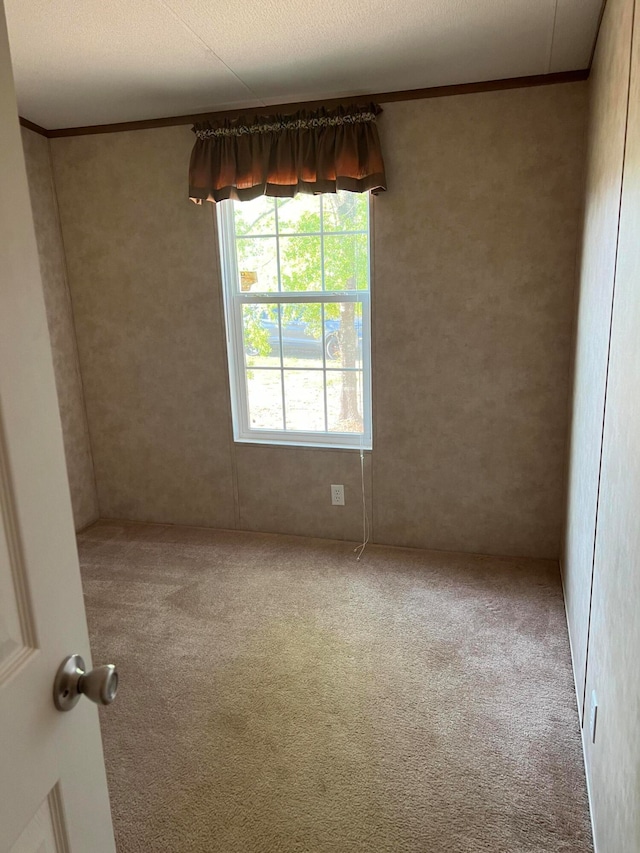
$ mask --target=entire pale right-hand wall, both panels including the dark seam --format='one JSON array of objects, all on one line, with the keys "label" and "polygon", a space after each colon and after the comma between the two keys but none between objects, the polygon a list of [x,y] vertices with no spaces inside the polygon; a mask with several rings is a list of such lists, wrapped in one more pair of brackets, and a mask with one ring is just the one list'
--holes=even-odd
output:
[{"label": "entire pale right-hand wall, both panels including the dark seam", "polygon": [[[586,679],[583,740],[598,853],[640,850],[637,0],[635,7],[632,41],[634,0],[609,0],[590,83],[589,180],[580,281],[569,525],[563,567],[579,692]],[[585,517],[580,518],[583,514]],[[598,718],[592,742],[589,724],[594,691]]]}]

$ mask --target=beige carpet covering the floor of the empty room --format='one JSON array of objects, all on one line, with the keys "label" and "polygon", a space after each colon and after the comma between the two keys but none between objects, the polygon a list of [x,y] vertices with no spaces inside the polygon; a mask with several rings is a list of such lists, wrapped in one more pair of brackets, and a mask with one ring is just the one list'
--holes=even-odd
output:
[{"label": "beige carpet covering the floor of the empty room", "polygon": [[119,853],[583,853],[557,566],[100,522]]}]

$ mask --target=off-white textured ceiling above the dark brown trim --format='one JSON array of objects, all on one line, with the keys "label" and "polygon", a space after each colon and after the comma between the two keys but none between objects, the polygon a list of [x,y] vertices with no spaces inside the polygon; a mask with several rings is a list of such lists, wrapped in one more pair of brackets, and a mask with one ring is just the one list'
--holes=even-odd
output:
[{"label": "off-white textured ceiling above the dark brown trim", "polygon": [[602,0],[5,0],[20,114],[53,129],[589,64]]}]

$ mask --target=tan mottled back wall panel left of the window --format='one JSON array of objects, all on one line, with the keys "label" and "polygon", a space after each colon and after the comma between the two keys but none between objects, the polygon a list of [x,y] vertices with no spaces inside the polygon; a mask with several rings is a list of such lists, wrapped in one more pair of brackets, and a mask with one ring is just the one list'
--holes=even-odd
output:
[{"label": "tan mottled back wall panel left of the window", "polygon": [[52,141],[100,513],[234,526],[213,208],[188,201],[193,135]]}]

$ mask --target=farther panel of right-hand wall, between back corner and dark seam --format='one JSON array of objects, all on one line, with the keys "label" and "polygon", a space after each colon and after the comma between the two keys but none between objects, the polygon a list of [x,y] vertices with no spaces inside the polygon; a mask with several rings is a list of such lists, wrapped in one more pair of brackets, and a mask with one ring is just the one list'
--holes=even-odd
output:
[{"label": "farther panel of right-hand wall, between back corner and dark seam", "polygon": [[564,586],[582,713],[607,353],[627,116],[633,0],[609,0],[589,78]]}]

